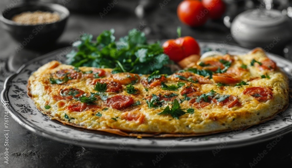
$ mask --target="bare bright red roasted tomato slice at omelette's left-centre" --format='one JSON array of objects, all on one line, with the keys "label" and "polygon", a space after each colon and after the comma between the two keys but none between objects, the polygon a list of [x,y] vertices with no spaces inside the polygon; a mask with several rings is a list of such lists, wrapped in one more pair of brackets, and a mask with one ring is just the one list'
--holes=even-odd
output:
[{"label": "bare bright red roasted tomato slice at omelette's left-centre", "polygon": [[130,107],[134,103],[134,100],[131,96],[115,95],[108,98],[106,102],[109,107],[121,110]]}]

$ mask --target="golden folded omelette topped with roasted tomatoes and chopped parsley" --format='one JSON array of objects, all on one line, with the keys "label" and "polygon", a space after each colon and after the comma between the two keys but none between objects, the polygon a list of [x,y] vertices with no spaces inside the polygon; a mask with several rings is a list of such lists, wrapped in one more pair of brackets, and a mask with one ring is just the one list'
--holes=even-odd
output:
[{"label": "golden folded omelette topped with roasted tomatoes and chopped parsley", "polygon": [[288,78],[256,48],[201,58],[171,75],[114,73],[51,61],[28,95],[63,124],[121,136],[196,136],[245,129],[288,107]]}]

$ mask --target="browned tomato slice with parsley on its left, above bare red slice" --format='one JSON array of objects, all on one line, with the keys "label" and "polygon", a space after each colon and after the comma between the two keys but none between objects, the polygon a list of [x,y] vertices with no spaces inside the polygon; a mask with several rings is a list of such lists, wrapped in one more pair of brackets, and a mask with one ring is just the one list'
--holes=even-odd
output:
[{"label": "browned tomato slice with parsley on its left, above bare red slice", "polygon": [[107,84],[107,90],[106,92],[118,92],[123,89],[123,86],[121,83],[114,79],[114,78],[97,78],[92,81],[92,85],[95,85],[97,82],[99,83],[106,83]]}]

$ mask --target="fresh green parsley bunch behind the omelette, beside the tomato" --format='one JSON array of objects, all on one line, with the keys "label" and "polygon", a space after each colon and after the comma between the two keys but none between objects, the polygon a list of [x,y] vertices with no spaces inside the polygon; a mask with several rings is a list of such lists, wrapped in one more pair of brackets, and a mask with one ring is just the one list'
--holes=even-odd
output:
[{"label": "fresh green parsley bunch behind the omelette, beside the tomato", "polygon": [[113,68],[112,73],[131,72],[151,74],[159,70],[162,74],[171,74],[166,64],[172,64],[163,53],[159,42],[148,44],[145,34],[132,29],[128,35],[115,41],[114,29],[104,30],[92,41],[91,34],[84,34],[81,40],[72,44],[77,48],[66,55],[67,64],[73,66],[91,66]]}]

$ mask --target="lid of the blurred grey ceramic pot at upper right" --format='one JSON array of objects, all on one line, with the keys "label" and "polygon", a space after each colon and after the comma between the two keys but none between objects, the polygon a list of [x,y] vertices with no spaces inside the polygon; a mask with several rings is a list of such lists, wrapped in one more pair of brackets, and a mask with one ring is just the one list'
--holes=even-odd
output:
[{"label": "lid of the blurred grey ceramic pot at upper right", "polygon": [[275,9],[251,9],[240,13],[236,19],[243,24],[255,27],[276,26],[291,21],[281,11]]}]

